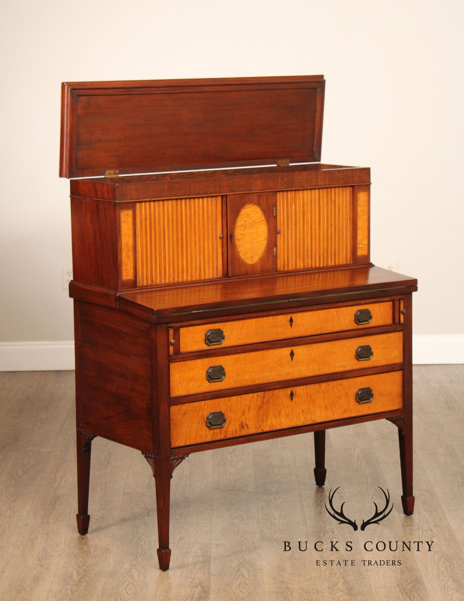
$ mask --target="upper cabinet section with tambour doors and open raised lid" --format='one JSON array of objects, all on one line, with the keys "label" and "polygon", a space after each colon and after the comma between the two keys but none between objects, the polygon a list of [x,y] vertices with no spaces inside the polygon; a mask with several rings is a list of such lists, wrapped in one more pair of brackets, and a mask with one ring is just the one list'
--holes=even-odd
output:
[{"label": "upper cabinet section with tambour doors and open raised lid", "polygon": [[63,84],[73,287],[114,306],[114,291],[370,263],[370,169],[318,162],[324,87]]}]

